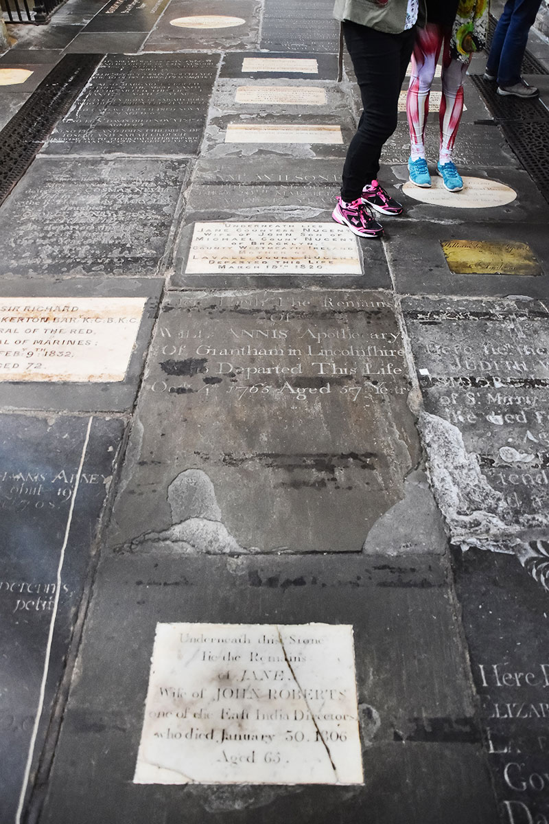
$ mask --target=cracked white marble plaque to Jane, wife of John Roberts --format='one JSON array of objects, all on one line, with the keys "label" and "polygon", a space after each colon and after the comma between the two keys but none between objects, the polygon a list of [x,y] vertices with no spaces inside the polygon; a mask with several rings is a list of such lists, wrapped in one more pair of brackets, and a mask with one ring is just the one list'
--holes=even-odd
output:
[{"label": "cracked white marble plaque to Jane, wife of John Roberts", "polygon": [[351,625],[157,624],[135,784],[362,784]]}]

